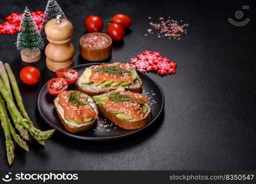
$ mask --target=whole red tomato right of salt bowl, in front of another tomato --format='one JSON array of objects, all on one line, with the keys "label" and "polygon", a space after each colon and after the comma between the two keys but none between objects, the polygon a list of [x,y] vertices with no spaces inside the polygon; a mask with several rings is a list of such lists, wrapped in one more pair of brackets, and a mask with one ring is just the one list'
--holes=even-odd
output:
[{"label": "whole red tomato right of salt bowl, in front of another tomato", "polygon": [[122,40],[124,37],[124,27],[118,23],[112,23],[106,29],[106,33],[113,39],[114,41]]}]

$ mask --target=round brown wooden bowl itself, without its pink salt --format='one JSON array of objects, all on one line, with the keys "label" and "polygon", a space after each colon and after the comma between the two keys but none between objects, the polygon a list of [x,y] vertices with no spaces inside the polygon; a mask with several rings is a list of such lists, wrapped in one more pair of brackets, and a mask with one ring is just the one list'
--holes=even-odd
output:
[{"label": "round brown wooden bowl itself, without its pink salt", "polygon": [[[82,39],[90,34],[100,34],[108,38],[110,40],[109,44],[106,45],[106,47],[103,48],[88,48],[84,47],[82,44]],[[79,45],[80,45],[80,55],[82,58],[88,60],[88,61],[103,61],[106,58],[109,58],[111,56],[112,52],[112,39],[110,36],[104,33],[89,33],[89,34],[84,34],[79,39]]]}]

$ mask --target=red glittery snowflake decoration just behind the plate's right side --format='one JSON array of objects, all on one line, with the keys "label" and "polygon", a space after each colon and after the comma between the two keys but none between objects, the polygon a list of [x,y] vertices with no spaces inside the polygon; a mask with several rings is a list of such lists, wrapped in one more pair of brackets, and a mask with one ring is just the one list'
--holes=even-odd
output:
[{"label": "red glittery snowflake decoration just behind the plate's right side", "polygon": [[130,59],[130,66],[138,71],[157,71],[160,75],[175,74],[177,63],[170,61],[167,57],[162,57],[160,52],[145,50],[137,55],[137,58]]}]

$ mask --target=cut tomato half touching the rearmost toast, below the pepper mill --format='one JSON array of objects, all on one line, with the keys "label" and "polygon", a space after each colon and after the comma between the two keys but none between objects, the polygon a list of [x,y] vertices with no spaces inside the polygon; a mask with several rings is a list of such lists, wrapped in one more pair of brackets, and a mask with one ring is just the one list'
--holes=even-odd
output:
[{"label": "cut tomato half touching the rearmost toast, below the pepper mill", "polygon": [[57,77],[65,79],[68,84],[76,82],[78,80],[78,71],[74,69],[59,69],[55,72]]}]

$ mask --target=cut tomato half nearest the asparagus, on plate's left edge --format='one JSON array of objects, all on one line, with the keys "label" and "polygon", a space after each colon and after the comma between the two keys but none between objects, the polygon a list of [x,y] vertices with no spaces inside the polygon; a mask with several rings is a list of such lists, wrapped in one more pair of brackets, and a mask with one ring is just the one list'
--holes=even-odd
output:
[{"label": "cut tomato half nearest the asparagus, on plate's left edge", "polygon": [[50,79],[47,83],[47,90],[50,94],[57,96],[61,91],[66,91],[68,89],[68,82],[65,79],[56,77]]}]

